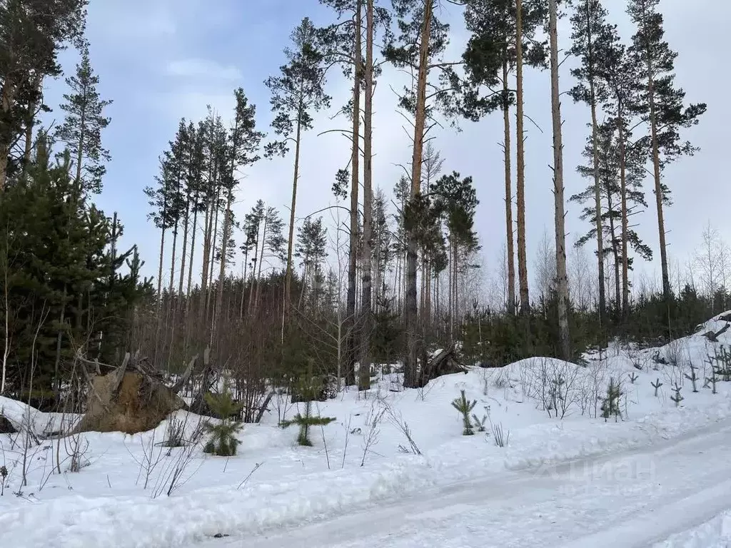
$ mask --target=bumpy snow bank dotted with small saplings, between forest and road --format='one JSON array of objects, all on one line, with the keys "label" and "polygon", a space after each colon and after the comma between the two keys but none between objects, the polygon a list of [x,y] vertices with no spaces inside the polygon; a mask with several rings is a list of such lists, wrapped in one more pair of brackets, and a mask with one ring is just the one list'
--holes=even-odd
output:
[{"label": "bumpy snow bank dotted with small saplings, between forest and road", "polygon": [[[722,325],[713,319],[700,332]],[[731,332],[727,333],[731,342]],[[22,497],[6,490],[0,498],[0,546],[45,548],[49,539],[55,539],[58,547],[69,548],[179,547],[216,533],[245,535],[366,509],[379,501],[457,482],[531,468],[538,472],[545,465],[656,444],[729,419],[729,383],[719,384],[717,395],[708,389],[692,393],[684,378],[686,359],[704,367],[713,351],[711,343],[697,334],[671,345],[632,355],[617,349],[601,362],[590,360],[588,367],[531,358],[498,370],[445,376],[425,389],[398,393],[390,391],[398,384],[395,376],[384,376],[368,398],[352,391],[318,404],[320,414],[338,420],[321,432],[316,429],[314,448],[294,446],[296,433],[276,427],[278,410],[273,410],[265,416],[265,424],[246,425],[237,457],[227,460],[196,452],[188,468],[194,474],[186,476],[186,483],[171,497],[151,498],[151,490],[144,490],[136,479],[141,449],[152,433],[91,433],[87,435],[91,466],[77,474],[54,474],[42,492],[32,487],[37,479],[31,479]],[[683,359],[676,365],[653,359],[670,353]],[[642,370],[637,370],[638,362]],[[545,395],[537,379],[547,372],[575,383],[576,400],[564,419],[549,416],[542,405]],[[630,373],[637,375],[635,381],[629,380]],[[699,370],[698,376],[703,373]],[[596,396],[603,395],[610,376],[623,381],[627,416],[616,422],[590,418],[596,413]],[[650,383],[658,378],[664,387],[656,397]],[[669,399],[675,381],[683,385],[686,398],[679,407]],[[461,389],[470,400],[477,400],[478,417],[489,415],[493,423],[510,430],[506,447],[494,444],[489,422],[488,433],[461,435],[461,419],[450,406]],[[393,414],[385,414],[378,444],[361,466],[364,440],[379,406],[387,406]],[[16,421],[35,411],[0,398],[3,407]],[[289,412],[295,413],[296,407]],[[37,411],[34,416],[37,428],[53,418]],[[404,454],[402,448],[409,442],[390,416],[408,422],[422,455]],[[155,440],[162,440],[164,428],[156,429]],[[4,451],[3,458],[9,458],[7,446]],[[238,489],[257,463],[261,468]],[[729,519],[721,521],[725,530]],[[667,545],[676,546],[681,544]]]}]

